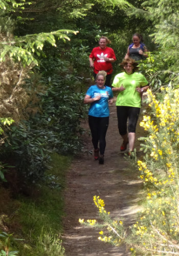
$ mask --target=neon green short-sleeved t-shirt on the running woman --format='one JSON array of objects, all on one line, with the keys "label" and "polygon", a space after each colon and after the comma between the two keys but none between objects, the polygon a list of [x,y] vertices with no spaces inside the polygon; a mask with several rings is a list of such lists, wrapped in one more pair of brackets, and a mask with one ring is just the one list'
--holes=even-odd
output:
[{"label": "neon green short-sleeved t-shirt on the running woman", "polygon": [[124,91],[119,92],[116,105],[117,106],[135,106],[141,107],[141,95],[136,91],[137,87],[144,87],[148,81],[141,73],[133,73],[128,75],[123,72],[115,76],[112,86],[119,88],[123,86]]}]

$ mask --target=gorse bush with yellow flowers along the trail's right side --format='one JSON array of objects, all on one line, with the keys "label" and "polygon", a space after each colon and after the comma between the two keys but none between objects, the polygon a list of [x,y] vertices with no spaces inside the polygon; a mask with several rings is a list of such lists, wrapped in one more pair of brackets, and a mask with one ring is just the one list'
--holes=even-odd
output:
[{"label": "gorse bush with yellow flowers along the trail's right side", "polygon": [[[162,91],[161,101],[148,91],[151,114],[140,123],[148,132],[147,137],[140,138],[144,141],[144,159],[137,161],[146,199],[138,221],[130,227],[131,233],[126,235],[122,222],[111,220],[103,200],[94,197],[103,220],[101,226],[107,227],[105,232],[100,231],[99,239],[115,246],[126,243],[133,255],[179,255],[179,89],[168,87]],[[86,223],[98,225],[96,220]]]}]

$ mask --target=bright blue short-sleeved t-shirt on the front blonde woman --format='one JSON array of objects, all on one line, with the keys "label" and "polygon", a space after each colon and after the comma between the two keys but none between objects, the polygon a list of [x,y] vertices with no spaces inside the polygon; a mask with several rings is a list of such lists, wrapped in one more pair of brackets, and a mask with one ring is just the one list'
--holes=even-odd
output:
[{"label": "bright blue short-sleeved t-shirt on the front blonde woman", "polygon": [[91,98],[95,98],[101,95],[100,100],[91,103],[88,115],[95,117],[107,117],[109,116],[108,100],[113,98],[113,91],[110,87],[105,86],[104,89],[100,89],[96,84],[89,87],[86,92]]}]

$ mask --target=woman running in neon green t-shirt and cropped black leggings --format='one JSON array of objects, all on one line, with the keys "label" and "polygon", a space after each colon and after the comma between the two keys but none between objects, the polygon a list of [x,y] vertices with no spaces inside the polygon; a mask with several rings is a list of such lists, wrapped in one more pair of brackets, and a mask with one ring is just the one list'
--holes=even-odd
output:
[{"label": "woman running in neon green t-shirt and cropped black leggings", "polygon": [[[119,92],[116,106],[119,134],[123,138],[120,147],[125,151],[129,143],[129,155],[133,151],[136,138],[136,125],[141,108],[141,94],[148,89],[148,81],[137,73],[137,65],[132,58],[126,58],[121,63],[124,72],[115,76],[112,87],[114,92]],[[128,119],[128,134],[127,134]]]}]

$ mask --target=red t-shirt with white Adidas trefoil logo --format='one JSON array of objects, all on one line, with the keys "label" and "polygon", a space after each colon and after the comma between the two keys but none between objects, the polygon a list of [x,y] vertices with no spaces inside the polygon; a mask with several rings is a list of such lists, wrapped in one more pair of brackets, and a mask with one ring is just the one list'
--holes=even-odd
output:
[{"label": "red t-shirt with white Adidas trefoil logo", "polygon": [[100,47],[93,48],[90,58],[94,59],[94,73],[98,73],[100,70],[104,70],[108,74],[113,72],[112,63],[104,60],[104,56],[107,58],[114,58],[116,60],[115,52],[112,48],[106,47],[101,49]]}]

